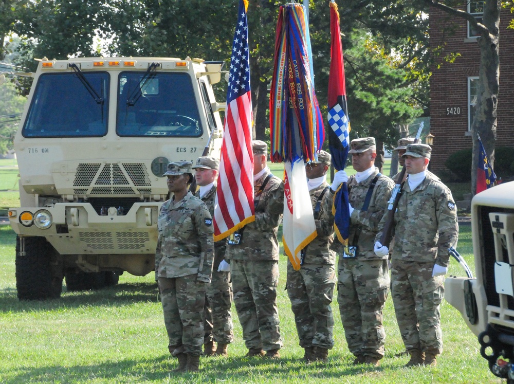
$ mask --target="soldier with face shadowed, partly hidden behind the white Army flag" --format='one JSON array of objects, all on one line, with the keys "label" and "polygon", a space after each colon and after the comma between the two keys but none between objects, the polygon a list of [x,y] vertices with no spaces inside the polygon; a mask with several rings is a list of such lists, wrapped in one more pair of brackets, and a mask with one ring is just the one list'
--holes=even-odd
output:
[{"label": "soldier with face shadowed, partly hidden behind the white Army flag", "polygon": [[302,250],[300,270],[287,263],[287,294],[307,363],[326,362],[328,350],[334,346],[330,306],[336,286],[336,252],[330,249],[334,241],[334,217],[322,210],[323,202],[329,198],[326,172],[330,164],[331,155],[320,151],[318,161],[305,166],[318,236]]}]

